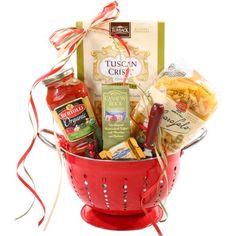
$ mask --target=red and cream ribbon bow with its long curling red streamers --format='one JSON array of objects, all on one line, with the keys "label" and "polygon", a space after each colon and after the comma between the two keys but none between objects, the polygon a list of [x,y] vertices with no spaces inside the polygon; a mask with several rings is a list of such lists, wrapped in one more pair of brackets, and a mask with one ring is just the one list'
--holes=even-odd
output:
[{"label": "red and cream ribbon bow with its long curling red streamers", "polygon": [[[126,45],[126,43],[118,35],[116,35],[115,33],[110,32],[109,30],[102,28],[104,23],[109,23],[109,22],[114,21],[115,19],[117,19],[117,17],[119,16],[119,12],[120,12],[120,10],[118,8],[118,3],[116,1],[114,1],[114,2],[108,4],[107,6],[105,6],[103,8],[103,10],[94,18],[94,20],[89,25],[87,30],[78,29],[76,27],[63,28],[63,29],[55,31],[49,38],[50,43],[58,51],[58,55],[59,56],[66,55],[66,56],[63,59],[61,59],[52,68],[51,71],[49,71],[48,73],[46,73],[43,76],[39,77],[31,87],[30,96],[29,96],[29,106],[33,110],[33,117],[34,117],[34,120],[36,122],[36,127],[33,123],[32,116],[29,112],[29,117],[30,117],[30,120],[31,120],[31,123],[32,123],[32,127],[34,129],[34,135],[33,135],[33,138],[32,138],[32,141],[31,141],[30,145],[28,146],[25,153],[21,156],[20,160],[18,161],[17,168],[16,168],[16,174],[17,174],[18,179],[35,196],[35,198],[38,200],[38,202],[42,206],[43,217],[39,220],[38,226],[40,226],[43,223],[44,219],[45,219],[46,207],[45,207],[42,199],[39,197],[39,195],[35,191],[35,189],[32,188],[23,179],[23,177],[21,177],[21,175],[19,174],[19,168],[22,165],[22,163],[26,160],[26,158],[27,158],[28,154],[30,153],[30,151],[32,150],[32,148],[34,146],[34,143],[37,139],[37,135],[39,133],[39,118],[38,118],[37,109],[36,109],[34,99],[33,99],[33,90],[44,79],[46,79],[47,77],[49,77],[51,75],[54,75],[55,73],[57,73],[58,71],[60,71],[64,67],[64,65],[68,62],[68,60],[70,59],[72,54],[76,51],[77,47],[80,45],[80,43],[86,37],[87,33],[90,32],[90,31],[105,31],[105,32],[111,34],[113,36],[113,38],[116,38],[119,41],[119,43],[126,49],[126,51],[128,53],[128,56],[129,56],[129,60],[130,60],[130,51],[129,51],[129,48]],[[130,62],[128,63],[128,65],[130,65]],[[126,70],[126,74],[125,74],[123,83],[126,82],[126,79],[128,78],[128,75],[129,75],[129,67]]]}]

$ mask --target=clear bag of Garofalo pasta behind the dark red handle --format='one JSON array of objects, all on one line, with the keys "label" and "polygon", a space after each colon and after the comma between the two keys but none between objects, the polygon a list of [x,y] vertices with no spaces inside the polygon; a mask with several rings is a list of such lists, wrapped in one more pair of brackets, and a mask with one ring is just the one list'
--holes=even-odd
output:
[{"label": "clear bag of Garofalo pasta behind the dark red handle", "polygon": [[183,148],[204,125],[217,106],[215,94],[206,80],[195,70],[184,70],[171,64],[146,91],[133,112],[132,134],[137,124],[145,124],[153,102],[162,103],[165,113],[161,121],[162,143],[168,154]]}]

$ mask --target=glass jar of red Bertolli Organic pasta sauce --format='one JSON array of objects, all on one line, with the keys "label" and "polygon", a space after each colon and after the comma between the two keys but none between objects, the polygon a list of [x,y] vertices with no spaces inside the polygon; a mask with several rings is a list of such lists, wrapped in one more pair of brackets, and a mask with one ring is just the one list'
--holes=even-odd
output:
[{"label": "glass jar of red Bertolli Organic pasta sauce", "polygon": [[47,104],[69,143],[69,151],[96,157],[97,121],[85,84],[75,78],[73,68],[63,70],[44,81]]}]

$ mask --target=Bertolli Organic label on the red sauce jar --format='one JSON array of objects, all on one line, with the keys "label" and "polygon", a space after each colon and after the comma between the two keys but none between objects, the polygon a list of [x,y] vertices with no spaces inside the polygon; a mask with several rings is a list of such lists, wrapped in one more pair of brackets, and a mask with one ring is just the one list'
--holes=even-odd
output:
[{"label": "Bertolli Organic label on the red sauce jar", "polygon": [[55,108],[53,116],[69,142],[84,138],[95,130],[96,120],[88,97]]}]

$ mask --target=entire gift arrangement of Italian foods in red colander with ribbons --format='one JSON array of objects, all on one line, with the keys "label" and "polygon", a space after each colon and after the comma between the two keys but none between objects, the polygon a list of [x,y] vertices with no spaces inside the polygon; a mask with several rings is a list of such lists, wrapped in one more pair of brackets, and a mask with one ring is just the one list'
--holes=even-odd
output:
[{"label": "entire gift arrangement of Italian foods in red colander with ribbons", "polygon": [[[204,124],[217,107],[196,70],[178,63],[164,69],[163,22],[117,22],[118,15],[112,2],[92,23],[77,22],[50,37],[63,58],[32,86],[36,127],[17,165],[19,180],[44,210],[39,225],[46,207],[18,171],[37,138],[64,161],[86,222],[112,230],[153,225],[162,235],[157,222],[167,217],[165,201],[183,150],[205,137]],[[65,66],[75,52],[77,76]],[[60,133],[39,128],[33,89],[41,82]]]}]

